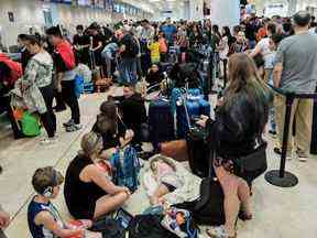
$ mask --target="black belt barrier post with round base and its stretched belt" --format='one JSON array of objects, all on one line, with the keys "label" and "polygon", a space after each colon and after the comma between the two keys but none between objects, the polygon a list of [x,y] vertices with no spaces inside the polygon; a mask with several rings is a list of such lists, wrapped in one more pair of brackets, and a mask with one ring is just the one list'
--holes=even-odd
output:
[{"label": "black belt barrier post with round base and its stretched belt", "polygon": [[289,132],[289,122],[292,107],[295,99],[317,99],[317,94],[295,94],[289,91],[284,91],[280,88],[270,86],[276,94],[283,95],[286,97],[286,111],[284,119],[284,129],[283,129],[283,144],[282,144],[282,154],[281,154],[281,164],[280,170],[272,170],[265,174],[265,180],[275,186],[280,187],[293,187],[298,184],[298,178],[296,175],[285,171],[286,164],[286,153],[287,153],[287,141]]}]

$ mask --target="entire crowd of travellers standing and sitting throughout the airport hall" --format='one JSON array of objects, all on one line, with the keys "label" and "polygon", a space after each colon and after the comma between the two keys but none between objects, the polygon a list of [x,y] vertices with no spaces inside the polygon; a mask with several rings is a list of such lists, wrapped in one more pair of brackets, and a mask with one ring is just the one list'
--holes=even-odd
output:
[{"label": "entire crowd of travellers standing and sitting throughout the airport hall", "polygon": [[[207,230],[207,234],[210,237],[237,237],[239,212],[242,210],[244,219],[252,219],[251,187],[249,181],[232,174],[232,161],[254,150],[262,141],[267,121],[270,133],[277,136],[274,151],[281,153],[285,97],[274,95],[273,104],[267,85],[285,93],[315,93],[315,18],[305,11],[296,13],[293,22],[289,18],[251,15],[232,31],[229,26],[220,30],[208,20],[173,23],[171,19],[162,23],[124,21],[116,29],[92,23],[87,29],[78,25],[73,40],[63,35],[58,26],[48,29],[45,37],[19,35],[21,65],[4,53],[0,54],[1,104],[3,101],[15,139],[24,137],[17,122],[17,108],[39,116],[47,133],[42,144],[56,142],[55,113],[65,110],[66,105],[70,108],[72,118],[63,125],[65,130],[81,129],[75,91],[78,67],[88,72],[92,79],[99,71],[99,74],[105,72],[106,77],[123,85],[122,97],[110,96],[102,102],[91,132],[83,137],[81,150],[67,169],[65,201],[74,218],[85,219],[83,227],[70,229],[63,223],[51,201],[57,197],[64,176],[53,167],[43,167],[36,170],[32,178],[36,192],[28,210],[32,236],[83,235],[86,228],[91,227],[91,220],[116,210],[129,199],[131,191],[114,184],[96,164],[101,160],[109,165],[117,148],[127,144],[132,144],[136,151],[142,150],[142,125],[147,121],[147,116],[145,100],[135,91],[135,85],[143,78],[149,85],[161,83],[167,64],[192,62],[195,58],[193,48],[209,45],[220,78],[226,74],[221,72],[222,64],[228,63],[229,84],[218,101],[216,119],[201,116],[197,121],[199,127],[208,130],[209,142],[217,144],[217,154],[221,159],[214,162],[214,171],[225,194],[226,223]],[[300,161],[306,161],[309,156],[313,101],[296,99],[291,117],[291,126],[296,118],[296,133],[293,137],[289,132],[287,159],[294,158],[296,152]],[[171,184],[161,184],[151,203],[164,202],[161,197],[174,190]],[[9,220],[9,216],[0,212],[0,228],[6,228]]]}]

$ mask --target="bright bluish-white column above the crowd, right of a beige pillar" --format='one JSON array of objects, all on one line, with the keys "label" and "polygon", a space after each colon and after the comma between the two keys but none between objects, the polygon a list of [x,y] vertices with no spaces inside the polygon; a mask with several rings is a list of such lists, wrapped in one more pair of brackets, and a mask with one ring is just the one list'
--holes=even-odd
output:
[{"label": "bright bluish-white column above the crowd, right of a beige pillar", "polygon": [[240,0],[211,0],[211,23],[234,26],[240,23]]}]

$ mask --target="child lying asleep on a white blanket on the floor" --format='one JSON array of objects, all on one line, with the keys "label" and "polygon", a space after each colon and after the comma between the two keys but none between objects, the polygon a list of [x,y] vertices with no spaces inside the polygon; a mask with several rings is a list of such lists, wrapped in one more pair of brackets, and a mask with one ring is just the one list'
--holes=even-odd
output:
[{"label": "child lying asleep on a white blanket on the floor", "polygon": [[194,201],[199,197],[199,184],[200,178],[190,174],[181,163],[161,154],[150,159],[143,177],[151,205]]}]

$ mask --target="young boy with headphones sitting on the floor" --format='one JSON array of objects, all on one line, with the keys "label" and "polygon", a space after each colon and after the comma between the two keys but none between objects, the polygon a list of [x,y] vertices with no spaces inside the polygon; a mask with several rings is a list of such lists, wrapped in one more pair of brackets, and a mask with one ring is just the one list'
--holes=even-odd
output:
[{"label": "young boy with headphones sitting on the floor", "polygon": [[90,220],[81,220],[83,226],[64,224],[58,210],[51,203],[59,194],[59,186],[64,182],[63,175],[52,166],[35,171],[32,185],[37,193],[28,209],[28,223],[32,237],[84,237],[85,229],[91,227]]}]

